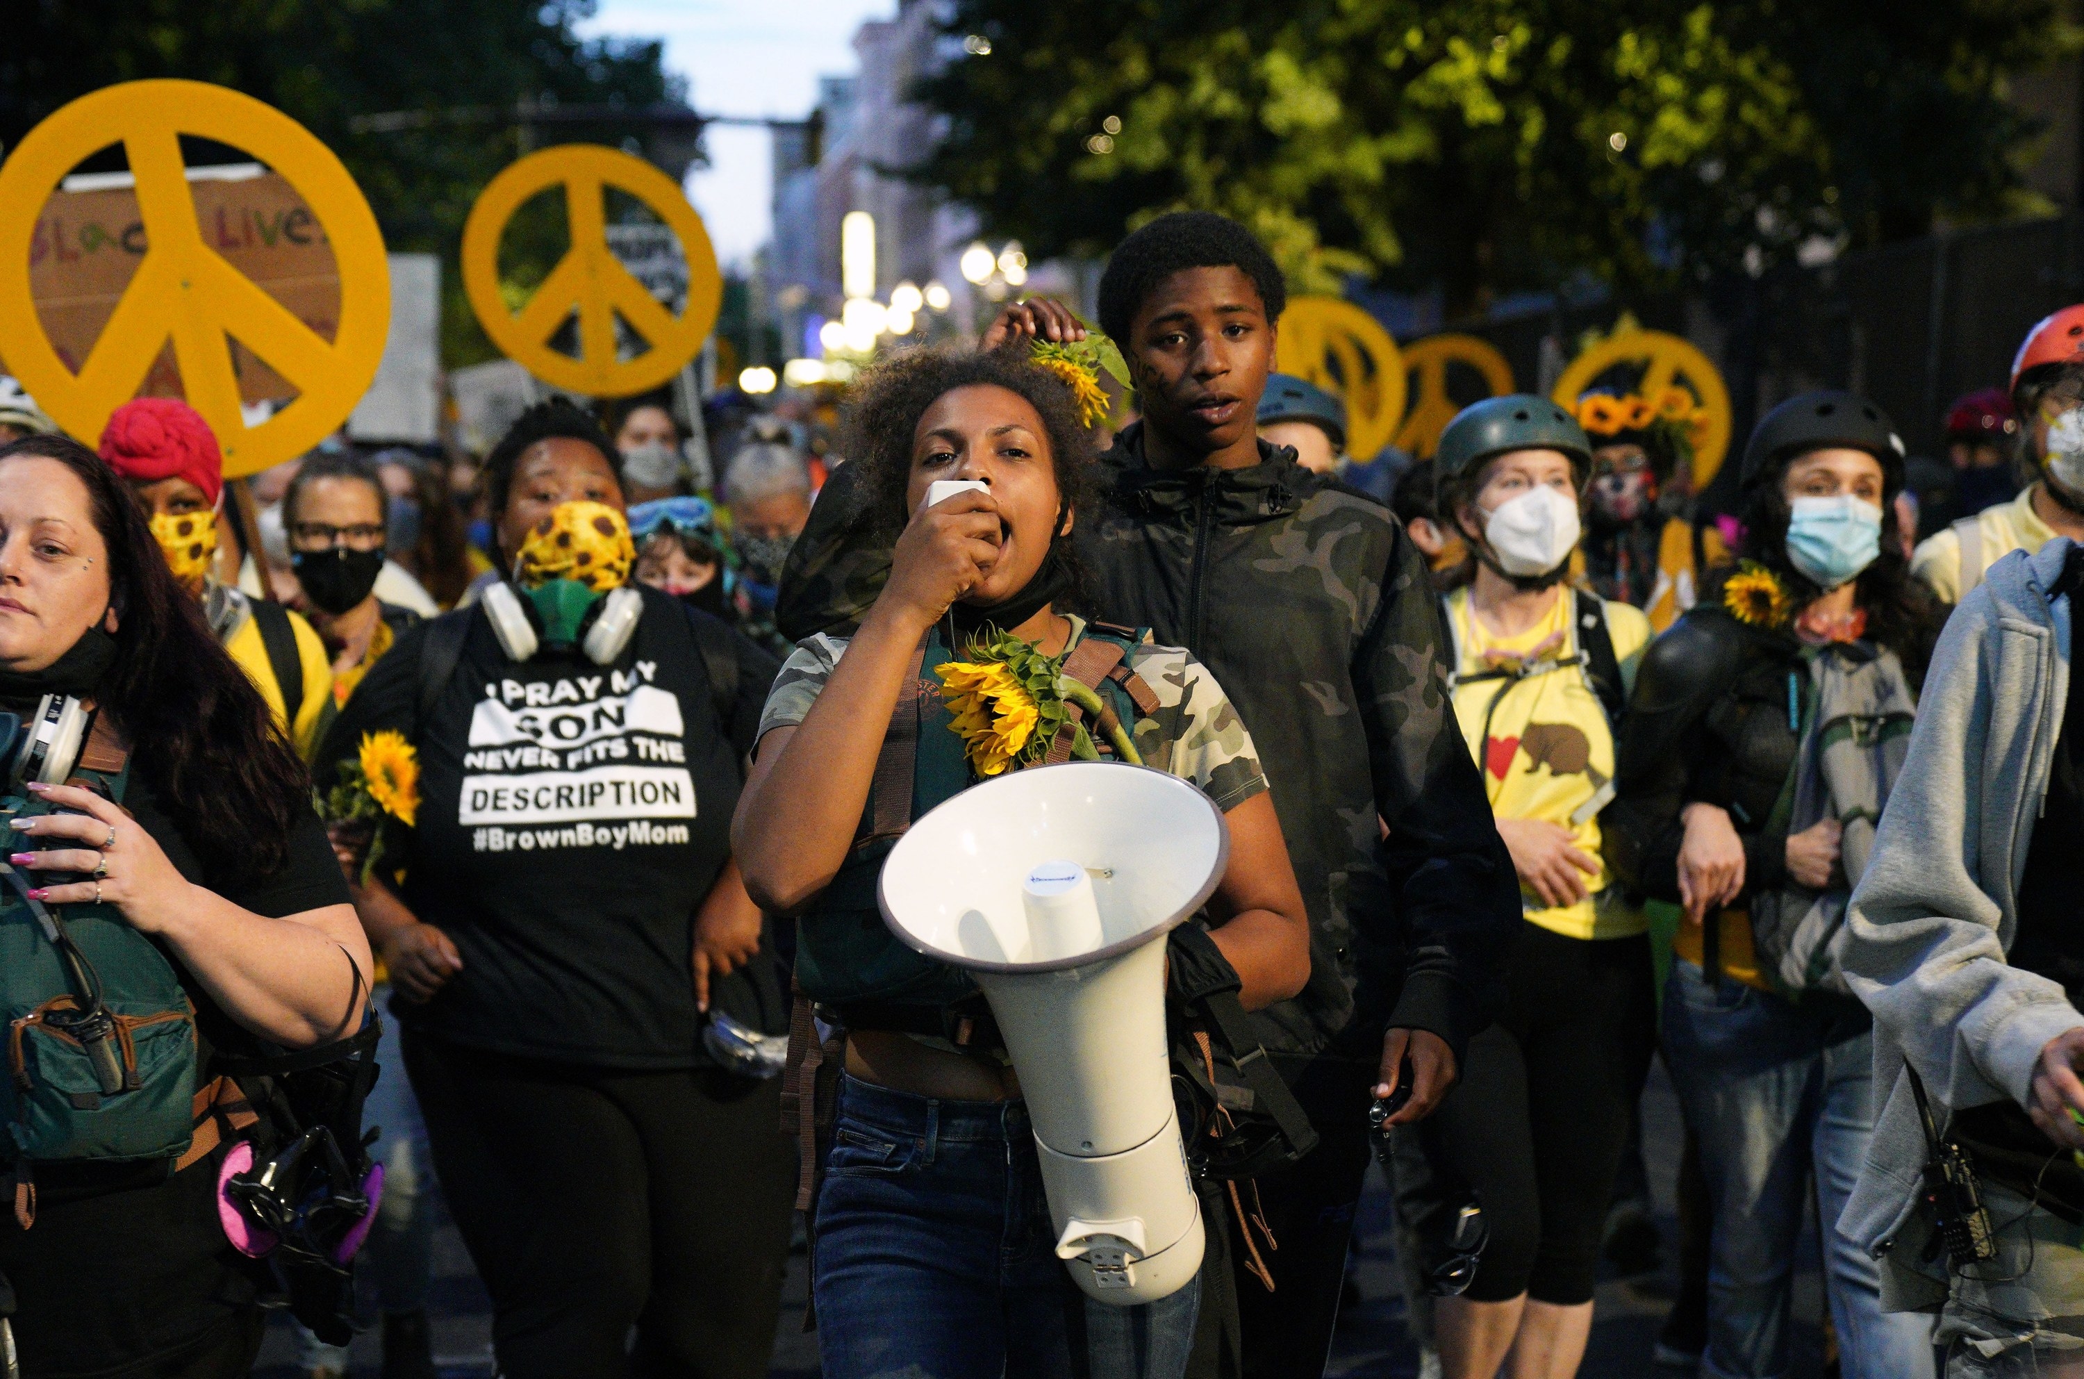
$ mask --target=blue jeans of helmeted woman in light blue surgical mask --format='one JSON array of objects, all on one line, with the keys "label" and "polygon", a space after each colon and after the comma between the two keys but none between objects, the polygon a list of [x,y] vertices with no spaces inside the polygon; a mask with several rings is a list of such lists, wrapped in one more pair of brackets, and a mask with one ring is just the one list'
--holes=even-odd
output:
[{"label": "blue jeans of helmeted woman in light blue surgical mask", "polygon": [[1794,1004],[1671,962],[1665,1058],[1701,1142],[1715,1225],[1703,1373],[1788,1373],[1788,1294],[1815,1175],[1824,1275],[1844,1379],[1930,1379],[1932,1321],[1882,1312],[1880,1269],[1838,1233],[1874,1137],[1874,1035],[1842,998]]}]

